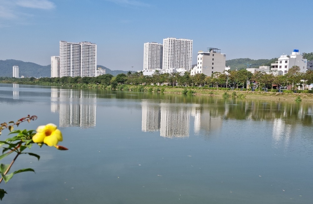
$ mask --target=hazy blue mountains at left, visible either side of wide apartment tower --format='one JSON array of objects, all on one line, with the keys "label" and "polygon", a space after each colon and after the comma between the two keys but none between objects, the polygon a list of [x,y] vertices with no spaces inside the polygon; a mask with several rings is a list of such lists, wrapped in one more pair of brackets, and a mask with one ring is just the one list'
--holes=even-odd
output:
[{"label": "hazy blue mountains at left, visible either side of wide apartment tower", "polygon": [[[0,77],[12,77],[13,76],[13,66],[18,66],[19,77],[50,77],[51,76],[51,65],[42,66],[32,62],[23,62],[15,59],[0,60]],[[104,66],[97,65],[105,69],[106,74],[112,74],[116,76],[117,74],[127,74],[128,71],[122,70],[111,70]]]}]

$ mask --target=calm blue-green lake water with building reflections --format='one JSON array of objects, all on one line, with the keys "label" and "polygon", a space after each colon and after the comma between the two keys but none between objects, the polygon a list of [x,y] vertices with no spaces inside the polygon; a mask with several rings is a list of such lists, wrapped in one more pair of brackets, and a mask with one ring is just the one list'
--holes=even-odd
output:
[{"label": "calm blue-green lake water with building reflections", "polygon": [[0,107],[69,148],[20,156],[36,173],[1,183],[2,203],[313,202],[312,103],[0,84]]}]

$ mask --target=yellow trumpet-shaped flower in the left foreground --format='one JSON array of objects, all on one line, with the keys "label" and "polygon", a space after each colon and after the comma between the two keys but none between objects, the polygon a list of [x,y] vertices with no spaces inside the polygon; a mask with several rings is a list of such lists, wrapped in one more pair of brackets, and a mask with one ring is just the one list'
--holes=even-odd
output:
[{"label": "yellow trumpet-shaped flower in the left foreground", "polygon": [[52,123],[40,125],[36,131],[37,133],[33,136],[33,142],[35,143],[45,143],[52,147],[63,141],[61,131]]}]

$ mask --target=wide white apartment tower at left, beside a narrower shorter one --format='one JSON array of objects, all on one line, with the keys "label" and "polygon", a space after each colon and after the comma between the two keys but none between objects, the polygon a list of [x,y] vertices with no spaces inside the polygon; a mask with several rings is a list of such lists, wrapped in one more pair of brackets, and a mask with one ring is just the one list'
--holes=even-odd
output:
[{"label": "wide white apartment tower at left, beside a narrower shorter one", "polygon": [[90,42],[60,41],[60,77],[94,77],[97,69],[97,45]]}]

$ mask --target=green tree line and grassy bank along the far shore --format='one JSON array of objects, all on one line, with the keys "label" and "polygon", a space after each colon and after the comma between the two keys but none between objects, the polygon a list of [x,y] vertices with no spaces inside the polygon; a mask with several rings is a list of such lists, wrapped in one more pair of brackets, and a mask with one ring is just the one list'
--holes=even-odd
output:
[{"label": "green tree line and grassy bank along the far shore", "polygon": [[[142,73],[127,73],[113,76],[104,74],[98,77],[55,77],[55,78],[9,78],[0,77],[1,83],[67,86],[77,88],[115,89],[138,92],[167,92],[182,94],[208,94],[239,98],[294,99],[299,95],[305,101],[313,101],[313,71],[300,72],[295,66],[285,75],[265,74],[242,70],[213,73],[212,76],[190,73],[180,75],[158,74],[144,76]],[[250,82],[250,85],[249,83]],[[248,89],[247,89],[248,87]],[[280,90],[280,87],[289,89]],[[299,89],[300,88],[300,89]],[[225,94],[226,93],[226,94]],[[238,93],[238,94],[237,94]]]}]

